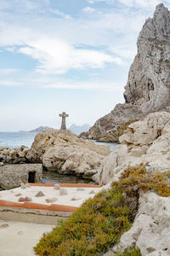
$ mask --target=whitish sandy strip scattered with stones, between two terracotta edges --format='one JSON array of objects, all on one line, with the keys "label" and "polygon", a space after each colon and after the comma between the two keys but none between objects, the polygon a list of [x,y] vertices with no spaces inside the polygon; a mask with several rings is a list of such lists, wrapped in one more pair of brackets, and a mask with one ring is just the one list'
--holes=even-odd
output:
[{"label": "whitish sandy strip scattered with stones, between two terracotta edges", "polygon": [[[32,202],[51,205],[51,203],[80,207],[83,201],[86,201],[89,197],[94,197],[99,192],[100,188],[61,188],[66,190],[67,195],[60,195],[59,190],[55,190],[53,187],[36,187],[21,189],[10,189],[0,192],[0,200],[18,202],[20,197],[30,197]],[[44,196],[36,197],[37,193],[42,191]],[[53,202],[47,202],[46,200],[54,199]]]}]

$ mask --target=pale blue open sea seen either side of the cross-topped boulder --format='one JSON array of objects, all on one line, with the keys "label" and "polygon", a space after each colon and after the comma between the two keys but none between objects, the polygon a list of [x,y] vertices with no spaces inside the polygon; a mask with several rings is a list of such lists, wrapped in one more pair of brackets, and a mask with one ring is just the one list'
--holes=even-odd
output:
[{"label": "pale blue open sea seen either side of the cross-topped boulder", "polygon": [[[0,132],[0,147],[20,148],[22,145],[31,148],[36,132]],[[94,141],[94,143],[97,143]],[[110,145],[111,151],[116,147],[116,143],[97,143],[99,145]]]}]

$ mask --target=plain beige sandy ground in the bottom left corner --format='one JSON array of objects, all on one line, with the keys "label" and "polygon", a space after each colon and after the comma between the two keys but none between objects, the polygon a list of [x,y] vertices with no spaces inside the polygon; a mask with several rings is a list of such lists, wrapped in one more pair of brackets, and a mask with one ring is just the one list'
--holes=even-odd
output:
[{"label": "plain beige sandy ground in the bottom left corner", "polygon": [[35,255],[33,247],[54,226],[0,220],[0,256]]}]

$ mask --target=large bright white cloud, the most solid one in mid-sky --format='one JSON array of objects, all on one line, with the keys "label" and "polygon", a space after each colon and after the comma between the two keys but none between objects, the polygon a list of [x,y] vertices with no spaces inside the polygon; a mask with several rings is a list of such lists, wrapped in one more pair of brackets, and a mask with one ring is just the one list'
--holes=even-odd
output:
[{"label": "large bright white cloud, the most solid one in mid-sky", "polygon": [[40,38],[31,42],[29,47],[21,47],[18,52],[37,59],[37,72],[40,73],[65,73],[70,68],[101,68],[106,62],[123,64],[118,57],[97,50],[76,49],[70,44],[50,38]]}]

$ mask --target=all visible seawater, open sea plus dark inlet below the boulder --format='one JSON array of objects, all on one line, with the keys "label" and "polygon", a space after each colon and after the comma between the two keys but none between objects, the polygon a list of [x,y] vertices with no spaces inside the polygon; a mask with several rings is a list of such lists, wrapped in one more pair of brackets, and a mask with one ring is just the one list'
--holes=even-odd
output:
[{"label": "all visible seawater, open sea plus dark inlet below the boulder", "polygon": [[[20,148],[21,146],[26,146],[31,148],[36,134],[36,132],[29,131],[0,132],[0,147]],[[98,143],[96,141],[94,143],[110,145],[111,151],[117,145],[116,143]],[[74,175],[61,175],[58,172],[42,172],[42,183],[92,183],[92,181]]]}]

